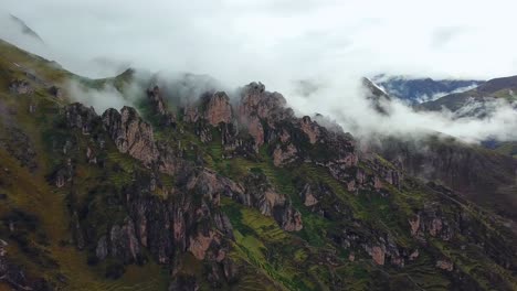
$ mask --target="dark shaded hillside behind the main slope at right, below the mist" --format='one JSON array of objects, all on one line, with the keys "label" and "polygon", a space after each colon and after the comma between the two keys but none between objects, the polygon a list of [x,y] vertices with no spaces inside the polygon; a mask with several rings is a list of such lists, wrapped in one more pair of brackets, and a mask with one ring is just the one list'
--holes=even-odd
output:
[{"label": "dark shaded hillside behind the main slope at right, below the mist", "polygon": [[437,134],[419,141],[390,138],[382,144],[383,157],[401,163],[408,174],[446,185],[517,222],[517,160],[507,155],[510,152],[497,148],[497,153]]}]

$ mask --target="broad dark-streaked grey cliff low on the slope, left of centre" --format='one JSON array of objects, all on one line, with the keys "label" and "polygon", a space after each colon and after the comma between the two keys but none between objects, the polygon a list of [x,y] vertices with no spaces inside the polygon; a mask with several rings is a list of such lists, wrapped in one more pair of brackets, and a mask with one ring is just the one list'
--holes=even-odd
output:
[{"label": "broad dark-streaked grey cliff low on the slope, left of centre", "polygon": [[160,263],[170,263],[175,254],[186,251],[199,260],[223,261],[228,252],[224,240],[233,239],[233,227],[217,207],[221,195],[242,195],[242,187],[212,171],[188,166],[177,180],[173,195],[166,201],[146,194],[152,177],[139,177],[127,190],[131,219],[110,230],[125,241],[118,245],[125,246],[118,258],[138,258],[138,250],[145,247]]}]

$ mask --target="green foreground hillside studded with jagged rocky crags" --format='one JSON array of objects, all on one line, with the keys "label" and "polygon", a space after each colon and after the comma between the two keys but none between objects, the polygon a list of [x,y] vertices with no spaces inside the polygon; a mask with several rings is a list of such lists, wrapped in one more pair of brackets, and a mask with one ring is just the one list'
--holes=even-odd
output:
[{"label": "green foreground hillside studded with jagged rocky crags", "polygon": [[[230,100],[0,52],[0,290],[517,289],[499,216],[261,83]],[[145,87],[96,112],[67,78]]]}]

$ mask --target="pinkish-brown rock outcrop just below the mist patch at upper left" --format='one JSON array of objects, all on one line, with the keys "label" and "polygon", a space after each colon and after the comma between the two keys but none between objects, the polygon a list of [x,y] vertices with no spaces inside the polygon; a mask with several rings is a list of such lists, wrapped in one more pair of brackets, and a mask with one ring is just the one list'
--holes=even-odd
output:
[{"label": "pinkish-brown rock outcrop just below the mist patch at upper left", "polygon": [[145,165],[157,160],[152,128],[134,108],[125,106],[120,112],[108,109],[103,114],[103,123],[120,152],[128,153]]}]

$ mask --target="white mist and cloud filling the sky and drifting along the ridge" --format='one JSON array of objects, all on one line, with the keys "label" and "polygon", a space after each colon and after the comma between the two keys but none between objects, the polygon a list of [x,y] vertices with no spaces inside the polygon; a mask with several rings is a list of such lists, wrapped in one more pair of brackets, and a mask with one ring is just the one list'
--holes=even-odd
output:
[{"label": "white mist and cloud filling the sky and drifting along the ridge", "polygon": [[[384,105],[390,115],[383,116],[360,87],[362,76],[379,73],[469,79],[515,75],[517,39],[507,35],[513,35],[517,3],[496,2],[469,1],[466,12],[464,4],[444,0],[40,0],[30,9],[20,0],[2,0],[0,15],[22,19],[45,45],[7,25],[0,37],[87,77],[114,76],[127,67],[161,72],[167,89],[186,98],[208,87],[232,95],[262,82],[282,93],[297,115],[329,116],[363,140],[436,131],[468,142],[517,140],[510,104],[498,103],[479,118],[416,112],[392,100]],[[184,73],[205,77],[184,87]],[[109,86],[87,89],[71,83],[68,89],[97,112],[133,103]]]}]

